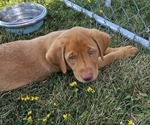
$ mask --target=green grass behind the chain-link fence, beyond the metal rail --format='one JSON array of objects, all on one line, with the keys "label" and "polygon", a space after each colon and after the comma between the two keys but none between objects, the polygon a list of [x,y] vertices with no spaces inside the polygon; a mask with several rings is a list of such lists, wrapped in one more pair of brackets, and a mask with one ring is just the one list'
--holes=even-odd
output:
[{"label": "green grass behind the chain-link fence, beyond the metal rail", "polygon": [[[111,22],[149,39],[150,2],[147,0],[115,0],[111,7],[105,0],[71,0]],[[101,11],[101,12],[100,12]]]}]

